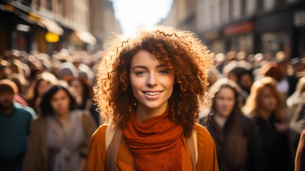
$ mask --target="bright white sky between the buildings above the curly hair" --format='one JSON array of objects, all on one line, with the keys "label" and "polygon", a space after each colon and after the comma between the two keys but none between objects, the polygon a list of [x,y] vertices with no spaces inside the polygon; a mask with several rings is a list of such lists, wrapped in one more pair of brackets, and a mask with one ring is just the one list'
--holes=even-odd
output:
[{"label": "bright white sky between the buildings above the curly hair", "polygon": [[140,26],[153,26],[167,17],[172,0],[112,0],[114,15],[123,34],[133,35]]}]

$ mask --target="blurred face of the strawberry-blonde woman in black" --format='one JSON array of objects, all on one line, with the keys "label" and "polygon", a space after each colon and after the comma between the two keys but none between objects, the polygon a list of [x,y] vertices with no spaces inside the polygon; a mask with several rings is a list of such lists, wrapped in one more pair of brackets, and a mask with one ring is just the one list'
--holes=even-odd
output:
[{"label": "blurred face of the strawberry-blonde woman in black", "polygon": [[259,105],[261,108],[267,112],[272,112],[275,110],[277,105],[277,99],[272,94],[269,87],[264,87],[261,90],[261,98],[259,99]]}]

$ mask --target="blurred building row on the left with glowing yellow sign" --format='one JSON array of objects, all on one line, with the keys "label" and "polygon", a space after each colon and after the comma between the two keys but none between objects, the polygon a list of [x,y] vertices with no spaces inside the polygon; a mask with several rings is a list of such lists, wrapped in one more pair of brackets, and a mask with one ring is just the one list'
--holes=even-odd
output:
[{"label": "blurred building row on the left with glowing yellow sign", "polygon": [[[51,54],[70,46],[102,49],[98,29],[103,32],[108,27],[104,9],[113,7],[112,3],[106,7],[109,0],[95,1],[100,2],[99,6],[92,5],[92,1],[95,0],[0,1],[0,51],[18,49]],[[116,21],[114,15],[108,17]]]}]

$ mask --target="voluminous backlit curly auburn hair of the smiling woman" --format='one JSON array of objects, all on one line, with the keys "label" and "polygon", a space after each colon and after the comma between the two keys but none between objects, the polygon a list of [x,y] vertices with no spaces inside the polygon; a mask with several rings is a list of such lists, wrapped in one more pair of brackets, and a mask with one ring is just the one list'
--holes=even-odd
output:
[{"label": "voluminous backlit curly auburn hair of the smiling woman", "polygon": [[142,29],[133,38],[114,35],[110,47],[102,53],[96,73],[94,100],[100,114],[112,127],[119,123],[124,128],[135,113],[136,99],[129,75],[133,56],[140,50],[154,54],[173,71],[175,84],[169,99],[169,115],[183,126],[186,136],[191,135],[201,104],[207,100],[207,78],[213,67],[213,53],[191,32],[173,27]]}]

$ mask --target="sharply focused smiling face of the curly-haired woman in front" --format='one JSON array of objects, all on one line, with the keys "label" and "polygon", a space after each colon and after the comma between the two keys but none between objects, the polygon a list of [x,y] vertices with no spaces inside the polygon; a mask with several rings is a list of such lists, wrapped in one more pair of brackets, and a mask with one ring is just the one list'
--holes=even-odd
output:
[{"label": "sharply focused smiling face of the curly-haired woman in front", "polygon": [[137,108],[166,109],[172,95],[174,74],[160,60],[146,50],[140,50],[132,59],[130,81]]}]

